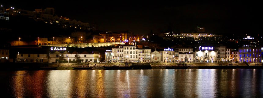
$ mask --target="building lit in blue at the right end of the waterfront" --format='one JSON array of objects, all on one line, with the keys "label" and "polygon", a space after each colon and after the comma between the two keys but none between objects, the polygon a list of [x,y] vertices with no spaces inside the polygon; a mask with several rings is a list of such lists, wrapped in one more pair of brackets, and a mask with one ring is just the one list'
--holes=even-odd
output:
[{"label": "building lit in blue at the right end of the waterfront", "polygon": [[240,47],[239,62],[261,62],[260,47]]}]

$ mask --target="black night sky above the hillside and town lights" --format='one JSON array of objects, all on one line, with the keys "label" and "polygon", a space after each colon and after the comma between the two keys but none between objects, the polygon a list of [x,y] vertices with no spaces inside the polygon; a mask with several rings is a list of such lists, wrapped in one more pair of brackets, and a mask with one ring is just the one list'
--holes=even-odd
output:
[{"label": "black night sky above the hillside and town lights", "polygon": [[54,2],[29,4],[4,1],[16,9],[53,7],[58,16],[96,24],[99,30],[146,34],[150,30],[189,32],[196,26],[215,34],[262,33],[262,8],[259,2]]}]

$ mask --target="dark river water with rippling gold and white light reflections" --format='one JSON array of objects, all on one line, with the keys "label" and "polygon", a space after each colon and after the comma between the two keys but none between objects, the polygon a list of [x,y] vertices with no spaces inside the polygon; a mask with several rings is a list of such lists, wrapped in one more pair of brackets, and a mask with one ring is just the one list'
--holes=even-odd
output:
[{"label": "dark river water with rippling gold and white light reflections", "polygon": [[11,97],[262,97],[262,69],[0,72]]}]

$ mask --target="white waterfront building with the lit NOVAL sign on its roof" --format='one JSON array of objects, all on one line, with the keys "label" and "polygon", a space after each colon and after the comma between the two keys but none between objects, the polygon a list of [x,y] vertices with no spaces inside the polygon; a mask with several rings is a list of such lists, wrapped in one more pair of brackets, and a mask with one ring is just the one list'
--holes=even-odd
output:
[{"label": "white waterfront building with the lit NOVAL sign on its roof", "polygon": [[160,51],[162,62],[174,62],[174,50],[172,48],[165,48],[164,51]]}]

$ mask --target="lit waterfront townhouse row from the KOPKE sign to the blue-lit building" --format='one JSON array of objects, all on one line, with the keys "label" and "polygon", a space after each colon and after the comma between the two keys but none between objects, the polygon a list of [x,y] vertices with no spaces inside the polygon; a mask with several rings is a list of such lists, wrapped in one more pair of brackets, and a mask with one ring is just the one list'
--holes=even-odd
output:
[{"label": "lit waterfront townhouse row from the KOPKE sign to the blue-lit building", "polygon": [[[246,47],[249,48],[249,47]],[[243,50],[243,51],[242,51]],[[106,62],[261,62],[259,47],[239,50],[226,47],[175,47],[162,51],[118,46],[106,51]]]}]

